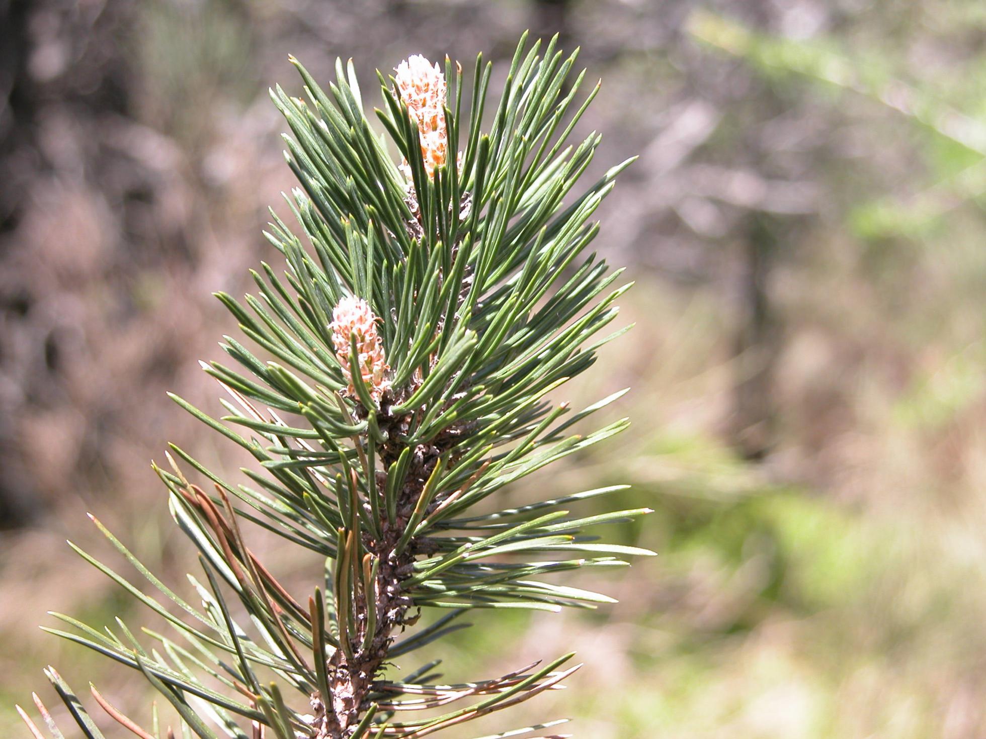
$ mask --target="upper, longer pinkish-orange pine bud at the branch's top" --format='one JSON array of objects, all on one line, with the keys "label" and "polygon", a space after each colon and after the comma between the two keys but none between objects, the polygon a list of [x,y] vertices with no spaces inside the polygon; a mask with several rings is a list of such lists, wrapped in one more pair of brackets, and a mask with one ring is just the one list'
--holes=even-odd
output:
[{"label": "upper, longer pinkish-orange pine bud at the branch's top", "polygon": [[[445,164],[449,149],[449,135],[445,126],[445,99],[447,84],[438,63],[432,63],[420,54],[402,61],[395,68],[394,82],[400,98],[418,124],[421,139],[421,159],[429,178],[435,168]],[[402,162],[400,170],[408,180],[411,168]]]}]

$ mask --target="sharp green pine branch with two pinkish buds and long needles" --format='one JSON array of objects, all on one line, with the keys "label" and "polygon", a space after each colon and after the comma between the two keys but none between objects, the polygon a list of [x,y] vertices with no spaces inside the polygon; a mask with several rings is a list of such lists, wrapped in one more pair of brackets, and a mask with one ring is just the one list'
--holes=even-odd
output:
[{"label": "sharp green pine branch with two pinkish buds and long needles", "polygon": [[[586,255],[599,230],[590,218],[629,161],[572,196],[599,135],[566,142],[599,85],[576,105],[585,71],[571,81],[576,54],[555,41],[540,56],[539,41],[521,39],[488,133],[482,55],[467,117],[462,70],[448,58],[444,71],[413,56],[394,76],[378,72],[386,136],[365,116],[351,63],[336,63],[326,94],[292,58],[308,101],[272,91],[301,184],[286,199],[307,244],[272,211],[265,235],[285,258],[283,277],[262,264],[257,297],[217,296],[252,345],[224,337],[239,370],[203,363],[229,395],[227,415],[175,397],[259,470],[234,484],[174,445],[169,464],[154,466],[199,554],[203,574],[188,575],[198,606],[96,518],[157,594],[74,547],[174,634],[145,629],[142,642],[119,619],[100,631],[61,615],[70,630],[47,629],[140,671],[185,735],[423,737],[517,705],[578,669],[572,655],[456,685],[435,683],[436,663],[397,674],[393,660],[462,628],[470,609],[611,602],[543,576],[650,554],[584,533],[647,509],[567,510],[625,486],[495,504],[505,486],[627,425],[568,433],[622,393],[578,412],[548,400],[623,332],[599,338],[629,287],[613,289],[619,272]],[[259,562],[245,521],[324,560],[311,595],[297,600]],[[429,609],[446,613],[414,628]],[[82,733],[102,737],[58,674],[46,674]],[[156,708],[148,731],[93,694],[133,734],[173,735],[159,731]]]}]

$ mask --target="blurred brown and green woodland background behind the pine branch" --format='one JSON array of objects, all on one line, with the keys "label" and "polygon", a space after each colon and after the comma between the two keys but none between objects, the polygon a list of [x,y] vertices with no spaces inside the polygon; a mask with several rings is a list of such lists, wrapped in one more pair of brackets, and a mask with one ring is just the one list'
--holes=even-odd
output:
[{"label": "blurred brown and green woodland background behind the pine branch", "polygon": [[131,673],[37,625],[146,620],[65,546],[130,574],[89,509],[182,586],[149,465],[167,440],[238,474],[165,392],[220,410],[196,360],[235,323],[211,293],[277,263],[260,230],[292,180],[266,91],[300,92],[288,53],[326,82],[354,57],[370,99],[375,67],[481,50],[496,90],[528,28],[603,79],[587,180],[641,155],[596,242],[629,265],[636,327],[562,393],[631,385],[611,415],[634,425],[509,495],[632,483],[620,503],[656,512],[605,533],[660,556],[582,576],[620,599],[599,613],[473,619],[436,650],[448,679],[578,649],[568,691],[491,732],[986,735],[972,0],[0,0],[0,734],[26,735],[13,704],[49,662],[147,720]]}]

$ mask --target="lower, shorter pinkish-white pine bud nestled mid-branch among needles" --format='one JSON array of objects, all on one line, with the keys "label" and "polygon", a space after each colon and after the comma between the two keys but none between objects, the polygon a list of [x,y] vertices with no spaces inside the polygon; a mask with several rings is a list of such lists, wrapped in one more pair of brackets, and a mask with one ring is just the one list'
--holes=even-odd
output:
[{"label": "lower, shorter pinkish-white pine bud nestled mid-branch among needles", "polygon": [[387,370],[390,368],[384,356],[384,343],[377,331],[379,320],[368,302],[355,296],[346,296],[332,308],[332,322],[329,324],[335,356],[349,383],[349,394],[356,395],[349,365],[351,337],[355,337],[360,375],[376,401],[380,401],[390,387],[390,380],[387,379]]}]

